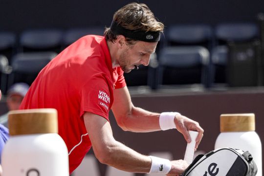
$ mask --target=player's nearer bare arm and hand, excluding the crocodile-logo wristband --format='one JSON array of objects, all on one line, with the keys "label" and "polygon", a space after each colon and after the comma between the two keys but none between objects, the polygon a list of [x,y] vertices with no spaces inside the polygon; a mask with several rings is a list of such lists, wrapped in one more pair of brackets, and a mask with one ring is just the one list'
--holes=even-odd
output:
[{"label": "player's nearer bare arm and hand, excluding the crocodile-logo wristband", "polygon": [[[117,169],[148,173],[152,160],[149,156],[139,154],[113,138],[110,123],[103,117],[86,112],[84,122],[97,159],[104,164]],[[187,168],[186,161],[171,161],[172,169],[169,174],[173,176],[182,173]]]}]

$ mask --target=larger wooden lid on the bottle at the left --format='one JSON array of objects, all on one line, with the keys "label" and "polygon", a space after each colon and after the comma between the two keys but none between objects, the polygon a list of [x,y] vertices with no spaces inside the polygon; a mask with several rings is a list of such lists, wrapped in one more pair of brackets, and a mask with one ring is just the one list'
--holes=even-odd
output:
[{"label": "larger wooden lid on the bottle at the left", "polygon": [[58,133],[55,109],[11,110],[8,113],[10,135]]}]

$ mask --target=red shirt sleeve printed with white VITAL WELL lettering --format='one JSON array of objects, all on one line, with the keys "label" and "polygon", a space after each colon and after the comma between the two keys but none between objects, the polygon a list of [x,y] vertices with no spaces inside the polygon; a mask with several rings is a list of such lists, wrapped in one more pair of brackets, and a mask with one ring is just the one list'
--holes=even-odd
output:
[{"label": "red shirt sleeve printed with white VITAL WELL lettering", "polygon": [[100,115],[109,121],[110,102],[112,100],[110,99],[109,86],[102,75],[94,76],[83,86],[81,97],[80,116],[87,111]]}]

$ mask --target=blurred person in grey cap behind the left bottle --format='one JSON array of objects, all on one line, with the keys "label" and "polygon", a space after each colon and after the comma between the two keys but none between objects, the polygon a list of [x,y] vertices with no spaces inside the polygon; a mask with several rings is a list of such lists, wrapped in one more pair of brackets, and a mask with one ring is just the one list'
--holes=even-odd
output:
[{"label": "blurred person in grey cap behind the left bottle", "polygon": [[[28,88],[26,83],[15,83],[7,90],[6,105],[8,110],[19,110]],[[0,124],[8,128],[8,113],[0,116]]]}]

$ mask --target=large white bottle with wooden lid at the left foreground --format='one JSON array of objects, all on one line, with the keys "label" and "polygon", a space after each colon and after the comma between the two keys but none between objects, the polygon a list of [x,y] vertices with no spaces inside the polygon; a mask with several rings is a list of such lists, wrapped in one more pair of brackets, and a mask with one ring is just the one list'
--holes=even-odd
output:
[{"label": "large white bottle with wooden lid at the left foreground", "polygon": [[68,151],[57,133],[57,110],[13,110],[8,124],[3,176],[69,176]]}]

